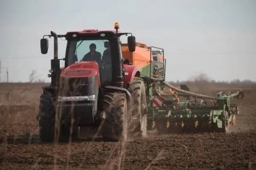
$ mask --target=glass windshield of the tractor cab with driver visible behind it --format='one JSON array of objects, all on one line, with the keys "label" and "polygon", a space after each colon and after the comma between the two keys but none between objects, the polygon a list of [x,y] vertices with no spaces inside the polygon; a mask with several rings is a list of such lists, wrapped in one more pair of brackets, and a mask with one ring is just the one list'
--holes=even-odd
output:
[{"label": "glass windshield of the tractor cab with driver visible behind it", "polygon": [[102,84],[112,80],[112,56],[109,40],[72,40],[68,45],[67,66],[81,61],[96,61]]}]

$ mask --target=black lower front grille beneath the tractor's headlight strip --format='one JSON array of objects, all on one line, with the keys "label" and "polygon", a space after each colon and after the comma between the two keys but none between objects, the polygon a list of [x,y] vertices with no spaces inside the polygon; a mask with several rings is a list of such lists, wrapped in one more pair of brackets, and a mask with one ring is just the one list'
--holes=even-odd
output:
[{"label": "black lower front grille beneath the tractor's headlight strip", "polygon": [[75,119],[84,119],[93,122],[93,103],[63,103],[57,105],[57,111],[64,119],[70,119],[72,114]]}]

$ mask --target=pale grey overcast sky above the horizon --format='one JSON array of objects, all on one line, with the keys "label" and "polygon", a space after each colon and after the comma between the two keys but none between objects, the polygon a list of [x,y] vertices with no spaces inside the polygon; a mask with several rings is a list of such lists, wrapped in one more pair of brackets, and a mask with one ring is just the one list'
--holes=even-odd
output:
[{"label": "pale grey overcast sky above the horizon", "polygon": [[[28,81],[32,69],[47,77],[47,55],[40,39],[50,31],[97,28],[133,32],[137,42],[165,50],[167,80],[187,80],[207,73],[214,80],[256,80],[256,1],[0,1],[1,81]],[[59,57],[65,55],[59,41]]]}]

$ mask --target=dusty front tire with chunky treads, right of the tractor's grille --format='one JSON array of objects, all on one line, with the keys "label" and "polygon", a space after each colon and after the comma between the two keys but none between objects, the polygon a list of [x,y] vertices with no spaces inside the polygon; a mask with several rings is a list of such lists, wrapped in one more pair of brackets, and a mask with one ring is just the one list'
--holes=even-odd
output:
[{"label": "dusty front tire with chunky treads, right of the tractor's grille", "polygon": [[130,120],[127,104],[125,93],[106,93],[104,95],[102,109],[105,112],[105,119],[100,128],[105,139],[114,142],[127,140],[127,125]]}]

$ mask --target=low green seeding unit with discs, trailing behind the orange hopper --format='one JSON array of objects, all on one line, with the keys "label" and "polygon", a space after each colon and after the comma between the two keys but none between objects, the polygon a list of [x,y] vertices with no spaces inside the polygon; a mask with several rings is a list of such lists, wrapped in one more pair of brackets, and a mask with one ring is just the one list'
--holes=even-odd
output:
[{"label": "low green seeding unit with discs, trailing behind the orange hopper", "polygon": [[162,106],[152,107],[152,118],[158,132],[228,132],[230,126],[236,125],[236,116],[239,114],[238,104],[230,100],[242,98],[244,94],[236,92],[228,95],[220,92],[214,98],[183,91],[179,96],[188,98],[177,102],[170,101],[170,96],[159,95],[159,98],[162,97]]}]

